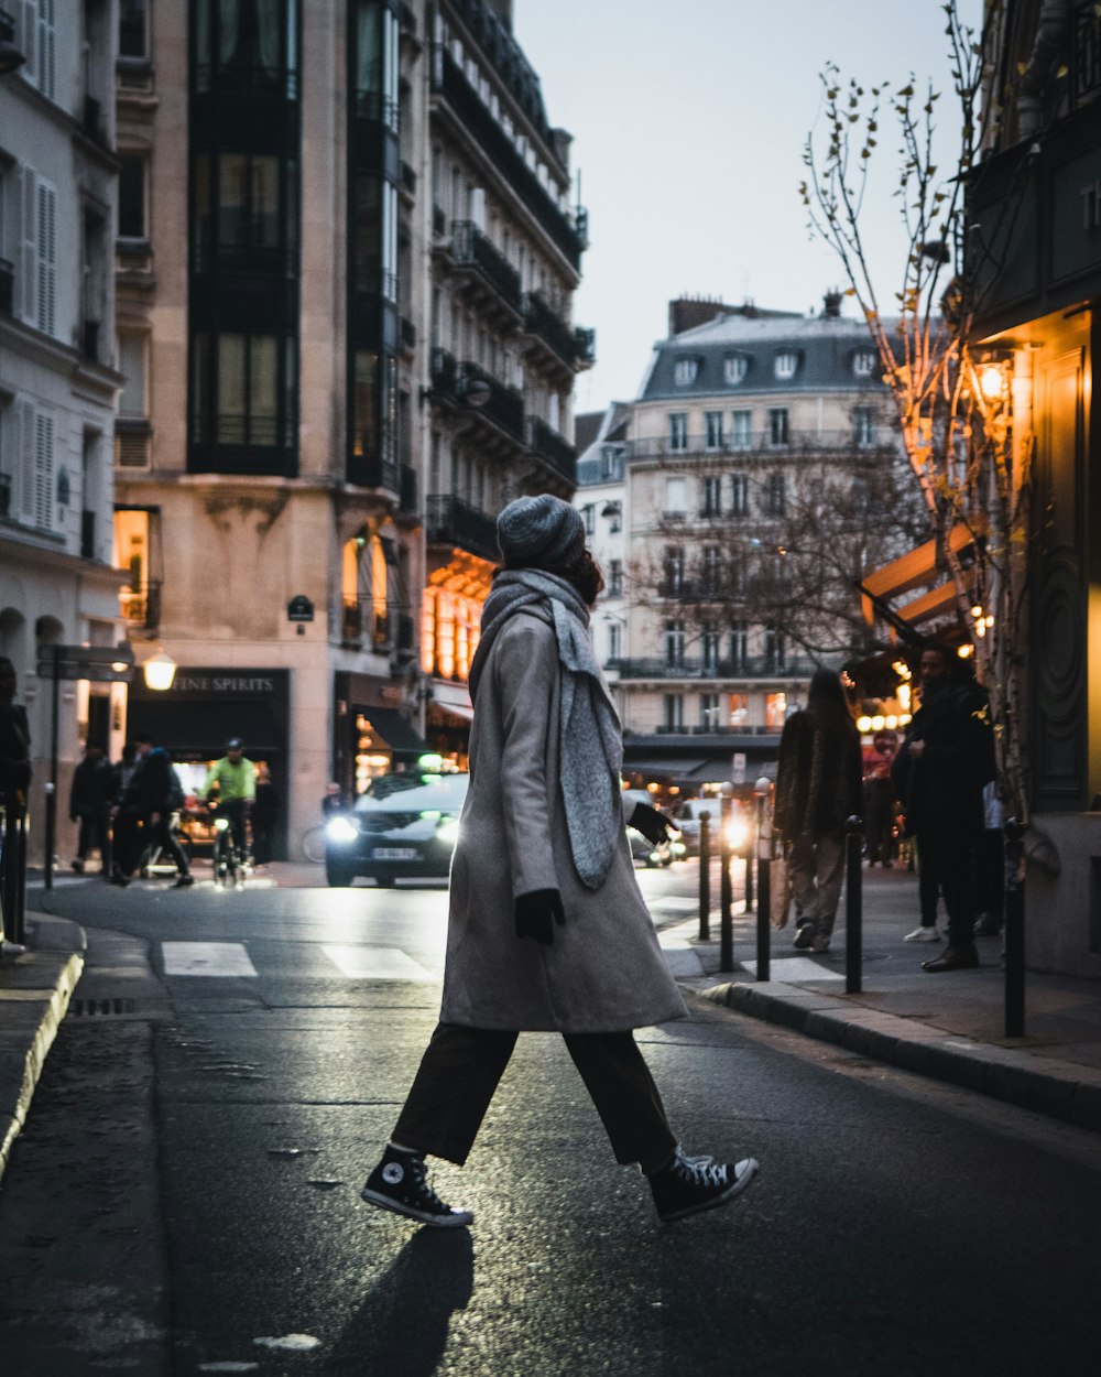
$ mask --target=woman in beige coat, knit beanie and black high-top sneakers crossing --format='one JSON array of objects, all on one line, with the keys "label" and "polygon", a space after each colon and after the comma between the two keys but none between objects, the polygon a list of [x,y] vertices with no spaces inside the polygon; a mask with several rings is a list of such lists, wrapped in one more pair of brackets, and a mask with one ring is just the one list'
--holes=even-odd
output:
[{"label": "woman in beige coat, knit beanie and black high-top sneakers crossing", "polygon": [[[725,1203],[757,1164],[687,1157],[633,1029],[685,1016],[634,879],[622,734],[588,638],[603,580],[581,515],[522,497],[497,522],[504,569],[471,666],[471,784],[451,862],[440,1022],[383,1159],[373,1205],[425,1224],[469,1210],[431,1190],[424,1158],[467,1159],[516,1037],[566,1040],[619,1162],[639,1162],[662,1219]],[[630,822],[655,840],[652,808]]]}]

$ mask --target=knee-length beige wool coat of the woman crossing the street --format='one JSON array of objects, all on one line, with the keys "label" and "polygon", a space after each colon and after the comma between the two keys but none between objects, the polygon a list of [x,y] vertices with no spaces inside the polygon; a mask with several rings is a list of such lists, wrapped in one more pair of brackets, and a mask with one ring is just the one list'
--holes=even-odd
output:
[{"label": "knee-length beige wool coat of the woman crossing the street", "polygon": [[[599,890],[574,870],[559,785],[560,675],[549,613],[517,611],[478,686],[471,785],[451,861],[445,1023],[614,1033],[688,1012],[626,832]],[[515,899],[534,890],[562,894],[566,923],[555,925],[550,946],[516,936]]]}]

